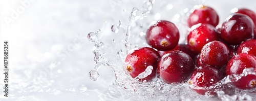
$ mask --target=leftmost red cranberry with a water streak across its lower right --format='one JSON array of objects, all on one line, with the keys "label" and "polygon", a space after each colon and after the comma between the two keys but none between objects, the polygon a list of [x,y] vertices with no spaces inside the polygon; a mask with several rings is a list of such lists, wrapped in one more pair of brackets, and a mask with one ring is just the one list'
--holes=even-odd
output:
[{"label": "leftmost red cranberry with a water streak across its lower right", "polygon": [[125,58],[126,70],[133,78],[135,78],[140,73],[144,72],[147,66],[152,65],[152,73],[146,78],[140,79],[141,81],[150,81],[156,76],[157,64],[159,59],[160,55],[156,50],[148,47],[138,48],[133,52],[127,54]]}]

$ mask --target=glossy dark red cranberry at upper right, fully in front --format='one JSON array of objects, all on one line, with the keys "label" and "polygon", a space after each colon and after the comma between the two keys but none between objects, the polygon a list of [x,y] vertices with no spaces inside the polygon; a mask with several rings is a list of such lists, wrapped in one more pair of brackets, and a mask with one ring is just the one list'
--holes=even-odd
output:
[{"label": "glossy dark red cranberry at upper right, fully in front", "polygon": [[254,24],[244,14],[232,14],[222,24],[220,38],[231,45],[253,38]]}]

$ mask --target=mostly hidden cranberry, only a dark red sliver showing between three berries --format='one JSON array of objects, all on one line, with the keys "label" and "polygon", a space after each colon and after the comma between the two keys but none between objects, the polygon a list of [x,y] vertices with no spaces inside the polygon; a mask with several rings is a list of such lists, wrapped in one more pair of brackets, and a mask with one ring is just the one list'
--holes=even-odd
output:
[{"label": "mostly hidden cranberry, only a dark red sliver showing between three berries", "polygon": [[197,56],[197,53],[195,53],[194,51],[190,50],[186,44],[179,44],[174,49],[169,50],[169,51],[159,51],[159,54],[161,56],[163,56],[164,54],[169,53],[170,51],[175,51],[175,50],[179,50],[179,51],[185,52],[191,58],[195,58]]}]

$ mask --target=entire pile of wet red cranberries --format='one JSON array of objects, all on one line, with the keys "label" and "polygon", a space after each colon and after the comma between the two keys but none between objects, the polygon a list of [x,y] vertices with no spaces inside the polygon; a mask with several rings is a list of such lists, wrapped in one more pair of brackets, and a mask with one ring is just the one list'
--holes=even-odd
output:
[{"label": "entire pile of wet red cranberries", "polygon": [[[256,70],[256,13],[239,9],[220,28],[216,27],[218,24],[219,16],[214,9],[198,6],[187,19],[187,43],[178,45],[180,33],[175,24],[157,21],[145,36],[152,48],[130,52],[125,59],[126,70],[135,78],[151,65],[152,73],[141,81],[150,81],[158,74],[168,84],[190,79],[189,84],[199,87],[212,86],[228,75],[242,74],[246,68]],[[239,89],[255,88],[256,76],[244,76],[232,85]],[[207,91],[194,90],[199,94]]]}]

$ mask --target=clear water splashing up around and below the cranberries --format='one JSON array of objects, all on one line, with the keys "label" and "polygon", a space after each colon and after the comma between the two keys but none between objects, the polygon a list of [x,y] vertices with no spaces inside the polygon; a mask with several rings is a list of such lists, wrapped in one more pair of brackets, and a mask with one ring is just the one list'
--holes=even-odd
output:
[{"label": "clear water splashing up around and below the cranberries", "polygon": [[[196,1],[198,4],[203,4],[204,1]],[[108,90],[104,90],[99,95],[102,100],[191,100],[191,99],[214,99],[214,100],[252,100],[256,99],[253,95],[256,91],[252,90],[239,90],[231,86],[232,82],[238,81],[241,77],[247,75],[256,75],[253,69],[245,69],[241,75],[230,75],[219,81],[217,84],[210,87],[197,87],[190,85],[188,82],[181,84],[166,84],[159,78],[154,78],[151,82],[140,82],[139,79],[145,78],[152,73],[153,67],[148,66],[147,69],[139,74],[136,78],[132,78],[127,71],[125,71],[124,58],[130,51],[130,48],[136,48],[141,46],[147,46],[144,41],[145,29],[143,24],[148,22],[140,22],[151,13],[153,4],[155,1],[145,2],[140,9],[133,8],[129,17],[129,22],[124,25],[121,21],[117,25],[111,26],[111,31],[114,34],[119,34],[125,30],[120,36],[113,35],[109,41],[105,41],[101,38],[100,32],[90,32],[88,39],[90,42],[94,42],[95,46],[92,51],[95,55],[96,61],[95,68],[89,73],[91,80],[97,80],[100,76],[98,70],[101,66],[110,66],[115,73],[115,82],[110,85]],[[184,12],[187,14],[187,12]],[[178,23],[178,27],[186,29],[184,26],[184,19],[186,14],[178,14],[179,17],[175,18]],[[185,17],[180,17],[180,16]],[[138,28],[139,27],[139,28]],[[181,30],[181,32],[185,32]],[[137,35],[136,35],[136,34]],[[105,33],[104,33],[105,34]],[[120,38],[124,38],[120,39]],[[131,40],[131,41],[130,41]],[[110,43],[110,44],[109,44]],[[126,50],[126,51],[124,51]],[[214,89],[218,96],[210,95],[210,92],[206,92],[205,95],[199,95],[192,89]]]}]

